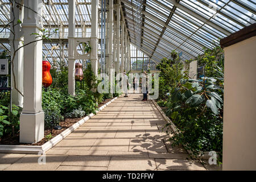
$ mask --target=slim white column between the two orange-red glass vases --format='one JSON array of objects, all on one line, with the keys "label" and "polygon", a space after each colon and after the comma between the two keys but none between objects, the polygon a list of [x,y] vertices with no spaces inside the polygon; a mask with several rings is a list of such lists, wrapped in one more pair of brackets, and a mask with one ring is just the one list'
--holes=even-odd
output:
[{"label": "slim white column between the two orange-red glass vases", "polygon": [[75,96],[75,2],[68,1],[68,93]]}]

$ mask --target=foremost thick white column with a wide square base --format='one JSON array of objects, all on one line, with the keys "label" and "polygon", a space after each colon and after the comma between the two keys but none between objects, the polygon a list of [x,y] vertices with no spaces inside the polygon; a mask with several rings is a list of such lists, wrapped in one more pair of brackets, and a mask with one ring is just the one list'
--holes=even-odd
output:
[{"label": "foremost thick white column with a wide square base", "polygon": [[[42,0],[24,0],[24,6],[42,14]],[[42,27],[39,20],[41,17],[31,11],[24,9],[22,23],[24,32],[24,44],[36,40]],[[39,38],[40,39],[40,38]],[[36,143],[44,138],[44,112],[42,110],[42,46],[38,41],[24,47],[24,105],[20,114],[20,137],[21,143]]]}]

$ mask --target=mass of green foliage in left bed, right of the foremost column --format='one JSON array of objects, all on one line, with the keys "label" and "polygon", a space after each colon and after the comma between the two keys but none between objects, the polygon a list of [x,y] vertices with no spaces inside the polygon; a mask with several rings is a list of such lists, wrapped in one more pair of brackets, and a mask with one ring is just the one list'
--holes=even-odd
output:
[{"label": "mass of green foliage in left bed, right of the foremost column", "polygon": [[65,118],[81,118],[84,115],[94,113],[98,104],[106,98],[108,93],[98,93],[98,80],[92,71],[90,63],[84,71],[85,88],[77,89],[76,95],[68,93],[68,69],[61,67],[59,71],[51,69],[53,84],[47,90],[42,91],[42,107],[45,115],[46,128],[58,125]]}]

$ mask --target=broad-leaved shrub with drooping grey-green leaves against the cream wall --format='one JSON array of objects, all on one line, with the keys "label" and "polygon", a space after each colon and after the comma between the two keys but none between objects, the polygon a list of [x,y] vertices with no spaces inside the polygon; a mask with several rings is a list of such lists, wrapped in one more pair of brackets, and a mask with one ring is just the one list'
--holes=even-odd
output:
[{"label": "broad-leaved shrub with drooping grey-green leaves against the cream wall", "polygon": [[[222,79],[183,80],[168,98],[166,114],[178,128],[172,145],[183,144],[193,155],[222,154]],[[168,126],[168,125],[167,125]]]}]

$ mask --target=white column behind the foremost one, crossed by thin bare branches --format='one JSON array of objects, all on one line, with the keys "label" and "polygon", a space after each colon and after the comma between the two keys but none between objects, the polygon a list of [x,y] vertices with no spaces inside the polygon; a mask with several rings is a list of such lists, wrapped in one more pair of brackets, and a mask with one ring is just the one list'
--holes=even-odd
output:
[{"label": "white column behind the foremost one, crossed by thin bare branches", "polygon": [[[23,4],[20,0],[18,3]],[[17,20],[23,19],[24,16],[24,8],[22,7],[22,10],[19,9],[19,7],[14,6],[14,24],[16,24]],[[13,13],[11,12],[11,20],[14,18]],[[13,30],[13,25],[10,26],[11,30]],[[10,34],[10,49],[11,49],[11,56],[14,55],[14,51],[18,49],[20,46],[22,46],[22,40],[23,40],[23,31],[22,28],[19,25],[16,25],[14,27],[15,32],[15,38],[13,34]],[[14,46],[13,47],[13,40],[14,40]],[[20,48],[19,51],[15,53],[15,57],[13,60],[13,66],[14,66],[14,75],[15,75],[15,82],[14,83],[14,77],[11,75],[13,79],[13,104],[23,107],[23,96],[18,92],[18,90],[23,94],[23,48]],[[18,90],[16,90],[14,87],[14,84]]]}]

